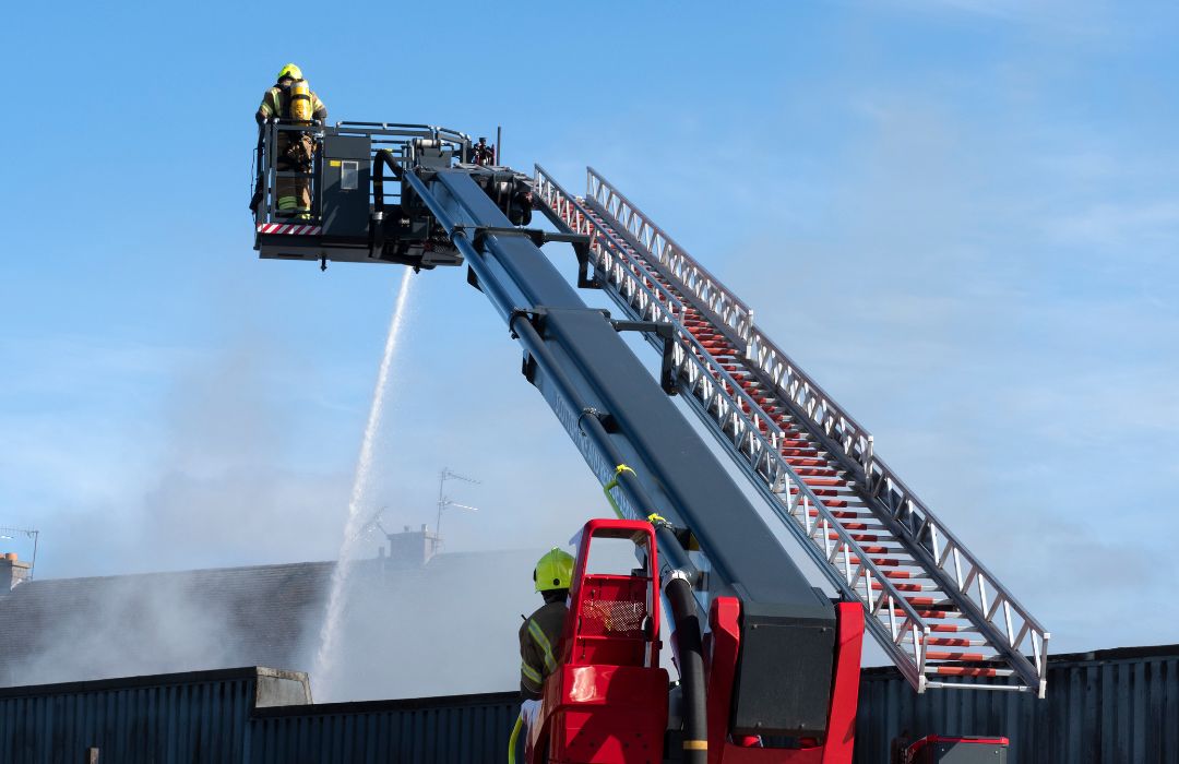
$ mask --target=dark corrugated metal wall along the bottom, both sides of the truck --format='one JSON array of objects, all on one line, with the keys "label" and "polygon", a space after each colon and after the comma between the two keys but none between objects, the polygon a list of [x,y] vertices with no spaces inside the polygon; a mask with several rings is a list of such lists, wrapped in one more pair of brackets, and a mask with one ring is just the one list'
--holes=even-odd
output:
[{"label": "dark corrugated metal wall along the bottom, both sides of the truck", "polygon": [[[908,733],[1003,735],[1012,764],[1179,764],[1179,645],[1060,656],[1048,699],[861,684],[857,764]],[[515,693],[310,705],[307,677],[235,668],[0,690],[4,764],[481,764],[506,760]]]}]

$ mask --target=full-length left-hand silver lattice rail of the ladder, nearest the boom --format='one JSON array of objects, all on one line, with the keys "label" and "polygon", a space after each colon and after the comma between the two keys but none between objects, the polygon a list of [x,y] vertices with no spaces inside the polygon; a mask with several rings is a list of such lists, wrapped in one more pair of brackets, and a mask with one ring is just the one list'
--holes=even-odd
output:
[{"label": "full-length left-hand silver lattice rail of the ladder, nearest the boom", "polygon": [[[580,208],[580,204],[567,193],[564,195],[562,202],[559,198],[562,191],[555,183],[542,183],[540,196],[546,204],[561,211],[572,212]],[[581,211],[585,212],[584,208]],[[676,321],[666,305],[658,301],[647,299],[644,302],[633,297],[644,291],[648,296],[651,294],[641,283],[643,277],[634,270],[618,269],[613,263],[606,262],[607,259],[617,261],[619,255],[625,255],[625,251],[617,245],[613,248],[602,245],[600,243],[602,238],[612,237],[606,232],[606,229],[600,229],[600,231],[602,236],[597,237],[597,245],[591,246],[592,253],[599,257],[599,268],[612,276],[620,276],[623,279],[634,282],[627,285],[611,278],[608,284],[613,288],[607,288],[607,294],[633,318],[664,320],[673,324],[679,340],[673,354],[677,378],[687,383],[687,389],[692,393],[690,397],[696,404],[693,408],[698,409],[697,414],[705,416],[707,422],[713,426],[709,428],[713,435],[718,437],[720,433],[725,435],[720,439],[722,442],[727,444],[732,454],[740,457],[739,461],[746,472],[751,476],[756,476],[756,483],[770,489],[768,498],[771,499],[775,513],[803,544],[819,569],[841,592],[857,599],[868,608],[869,614],[872,615],[868,620],[874,634],[913,685],[918,691],[922,690],[924,676],[921,672],[921,666],[924,664],[924,640],[922,638],[914,640],[911,656],[902,646],[909,633],[929,633],[916,610],[894,587],[891,580],[880,572],[870,556],[843,527],[842,521],[782,459],[777,447],[771,442],[771,439],[780,442],[783,435],[780,428],[764,416],[760,407],[745,394],[727,370],[712,358],[711,354]],[[661,340],[650,332],[645,334],[652,344],[661,347]],[[689,349],[693,351],[690,353]],[[733,395],[729,390],[738,393],[739,402],[733,400]],[[742,409],[740,403],[745,403],[749,414]],[[758,429],[759,423],[766,429],[776,430],[776,435],[771,434],[771,439],[768,439]],[[717,426],[719,426],[719,433]],[[783,495],[786,496],[785,500],[782,498]],[[810,513],[812,508],[815,509],[814,519]],[[837,536],[835,540],[830,539],[832,533]],[[850,560],[851,555],[858,558],[854,569],[850,565],[845,565],[843,573],[839,572],[837,564],[841,554],[843,560]],[[880,593],[875,591],[874,585],[881,586]],[[861,586],[863,592],[859,591]],[[888,626],[880,620],[882,611],[883,614],[889,615]],[[894,618],[897,611],[903,614],[903,620],[897,621]]]}]

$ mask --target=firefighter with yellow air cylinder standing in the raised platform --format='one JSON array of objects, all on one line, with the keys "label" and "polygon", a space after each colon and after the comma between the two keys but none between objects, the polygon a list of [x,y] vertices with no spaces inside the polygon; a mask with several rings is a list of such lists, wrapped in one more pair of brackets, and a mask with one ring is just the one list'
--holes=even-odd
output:
[{"label": "firefighter with yellow air cylinder standing in the raised platform", "polygon": [[[279,125],[310,126],[312,121],[323,124],[328,118],[328,107],[303,79],[302,70],[294,64],[288,64],[278,72],[274,87],[262,97],[262,105],[258,106],[258,113],[253,117],[258,121],[259,129],[270,119],[277,119]],[[310,173],[314,158],[315,139],[310,132],[278,131],[275,145],[275,166],[279,172]],[[257,195],[255,198],[258,199]],[[275,179],[275,206],[279,215],[309,218],[311,216],[311,178],[277,177]]]}]

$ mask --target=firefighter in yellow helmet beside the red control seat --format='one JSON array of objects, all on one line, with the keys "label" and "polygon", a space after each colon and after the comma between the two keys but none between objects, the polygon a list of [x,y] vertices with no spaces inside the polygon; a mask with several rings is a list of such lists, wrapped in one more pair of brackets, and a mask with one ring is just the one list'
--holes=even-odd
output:
[{"label": "firefighter in yellow helmet beside the red control seat", "polygon": [[573,578],[573,556],[556,547],[536,562],[532,578],[545,598],[520,626],[520,717],[533,725],[540,713],[540,694],[545,679],[556,670],[561,656],[561,633],[569,612],[565,604]]}]

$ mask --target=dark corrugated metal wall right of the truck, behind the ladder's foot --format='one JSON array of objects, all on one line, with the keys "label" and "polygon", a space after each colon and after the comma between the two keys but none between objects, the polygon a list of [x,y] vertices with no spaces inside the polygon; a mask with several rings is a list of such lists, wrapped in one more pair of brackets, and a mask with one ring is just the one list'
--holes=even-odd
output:
[{"label": "dark corrugated metal wall right of the truck, behind the ladder's foot", "polygon": [[888,762],[894,737],[1001,735],[1010,764],[1179,763],[1179,645],[1060,656],[1048,697],[930,691],[918,696],[893,670],[859,687],[856,764]]}]

